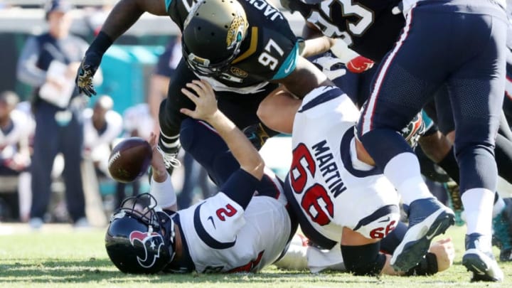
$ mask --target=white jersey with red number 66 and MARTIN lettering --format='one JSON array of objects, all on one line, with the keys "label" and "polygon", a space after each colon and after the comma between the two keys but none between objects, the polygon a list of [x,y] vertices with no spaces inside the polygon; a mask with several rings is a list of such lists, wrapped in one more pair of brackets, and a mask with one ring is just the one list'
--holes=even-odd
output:
[{"label": "white jersey with red number 66 and MARTIN lettering", "polygon": [[338,87],[309,92],[295,114],[284,193],[304,235],[324,249],[341,241],[343,227],[383,238],[400,218],[393,185],[382,171],[357,159],[358,117]]}]

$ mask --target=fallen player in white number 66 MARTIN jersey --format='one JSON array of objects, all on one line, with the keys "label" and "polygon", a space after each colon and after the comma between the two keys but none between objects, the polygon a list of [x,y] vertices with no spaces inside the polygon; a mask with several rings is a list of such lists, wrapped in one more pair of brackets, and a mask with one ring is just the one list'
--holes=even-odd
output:
[{"label": "fallen player in white number 66 MARTIN jersey", "polygon": [[[292,134],[292,167],[284,193],[313,245],[341,247],[346,270],[358,275],[434,274],[452,264],[451,240],[440,244],[446,254],[439,267],[436,255],[427,254],[410,270],[395,271],[390,255],[379,252],[380,240],[399,222],[398,195],[354,137],[359,110],[345,93],[334,86],[319,87],[298,100],[282,90],[267,97],[258,110],[261,116],[277,112],[293,120],[262,120],[267,127]],[[417,138],[421,121],[418,117],[415,129],[407,131],[408,140]]]}]

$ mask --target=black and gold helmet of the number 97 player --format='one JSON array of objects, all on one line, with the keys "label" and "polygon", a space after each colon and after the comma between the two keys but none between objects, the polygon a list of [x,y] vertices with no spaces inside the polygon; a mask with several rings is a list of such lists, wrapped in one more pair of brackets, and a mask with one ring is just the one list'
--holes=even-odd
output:
[{"label": "black and gold helmet of the number 97 player", "polygon": [[183,57],[198,75],[215,76],[228,70],[240,53],[249,23],[236,0],[198,2],[183,23]]}]

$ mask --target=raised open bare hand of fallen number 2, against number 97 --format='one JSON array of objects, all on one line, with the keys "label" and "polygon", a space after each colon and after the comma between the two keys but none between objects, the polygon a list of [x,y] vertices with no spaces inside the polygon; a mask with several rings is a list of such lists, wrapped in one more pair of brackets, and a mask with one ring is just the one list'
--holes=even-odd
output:
[{"label": "raised open bare hand of fallen number 2, against number 97", "polygon": [[192,118],[203,119],[208,122],[208,119],[213,117],[215,112],[218,112],[213,87],[205,80],[192,80],[192,82],[186,84],[186,87],[188,89],[181,88],[181,92],[196,104],[196,110],[181,108],[180,112]]}]

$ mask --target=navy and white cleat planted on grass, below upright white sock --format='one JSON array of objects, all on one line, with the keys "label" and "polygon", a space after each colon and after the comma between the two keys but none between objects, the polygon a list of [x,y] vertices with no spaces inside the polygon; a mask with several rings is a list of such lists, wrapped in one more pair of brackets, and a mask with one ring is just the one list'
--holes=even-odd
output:
[{"label": "navy and white cleat planted on grass, below upright white sock", "polygon": [[471,282],[503,281],[503,271],[491,250],[491,239],[479,233],[466,235],[466,252],[462,256],[462,265],[473,272]]}]

